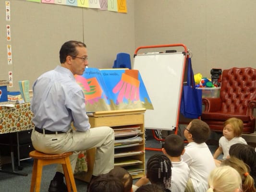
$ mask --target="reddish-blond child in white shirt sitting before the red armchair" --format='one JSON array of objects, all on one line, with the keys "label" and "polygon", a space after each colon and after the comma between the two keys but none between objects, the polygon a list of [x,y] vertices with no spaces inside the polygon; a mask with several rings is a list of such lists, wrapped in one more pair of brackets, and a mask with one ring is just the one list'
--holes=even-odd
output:
[{"label": "reddish-blond child in white shirt sitting before the red armchair", "polygon": [[213,157],[216,165],[220,164],[217,160],[220,154],[223,153],[223,159],[229,156],[229,149],[232,144],[247,144],[243,137],[243,121],[237,118],[230,118],[224,122],[223,136],[219,139],[219,147],[215,151]]}]

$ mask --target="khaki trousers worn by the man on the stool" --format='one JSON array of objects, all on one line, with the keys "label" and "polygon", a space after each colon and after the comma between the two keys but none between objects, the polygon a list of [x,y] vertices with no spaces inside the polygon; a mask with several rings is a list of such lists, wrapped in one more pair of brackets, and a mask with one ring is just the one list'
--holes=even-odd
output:
[{"label": "khaki trousers worn by the man on the stool", "polygon": [[[43,134],[32,131],[31,140],[37,151],[61,154],[73,151],[70,162],[74,171],[81,150],[96,147],[93,175],[108,173],[114,168],[114,131],[110,127],[96,127],[86,132],[70,131],[61,134]],[[62,166],[57,171],[63,173]]]}]

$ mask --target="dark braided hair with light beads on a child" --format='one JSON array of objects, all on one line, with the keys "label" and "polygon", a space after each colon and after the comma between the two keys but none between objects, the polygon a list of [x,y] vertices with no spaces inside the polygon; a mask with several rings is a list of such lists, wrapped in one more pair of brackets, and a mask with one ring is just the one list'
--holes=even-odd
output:
[{"label": "dark braided hair with light beads on a child", "polygon": [[165,155],[155,154],[146,163],[146,177],[151,183],[171,188],[171,161]]}]

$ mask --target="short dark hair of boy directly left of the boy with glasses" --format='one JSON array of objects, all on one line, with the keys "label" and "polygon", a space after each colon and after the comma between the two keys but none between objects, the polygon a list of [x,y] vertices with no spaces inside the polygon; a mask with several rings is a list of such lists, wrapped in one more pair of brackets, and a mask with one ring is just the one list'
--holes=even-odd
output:
[{"label": "short dark hair of boy directly left of the boy with glasses", "polygon": [[169,156],[181,156],[184,149],[184,141],[180,135],[171,134],[165,138],[163,147]]}]

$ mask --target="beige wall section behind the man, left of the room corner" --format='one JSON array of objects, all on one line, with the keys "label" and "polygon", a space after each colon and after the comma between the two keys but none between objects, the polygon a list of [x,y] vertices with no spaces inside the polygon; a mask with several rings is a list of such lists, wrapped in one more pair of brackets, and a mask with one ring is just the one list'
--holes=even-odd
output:
[{"label": "beige wall section behind the man, left of the room corner", "polygon": [[[0,79],[13,73],[13,87],[29,80],[30,88],[43,72],[60,64],[59,50],[68,40],[84,41],[89,66],[112,68],[118,52],[134,53],[134,0],[127,13],[99,11],[57,4],[11,1],[11,21],[5,20],[5,1],[0,2]],[[11,25],[11,42],[6,40]],[[7,64],[7,44],[12,45],[12,65]]]}]

